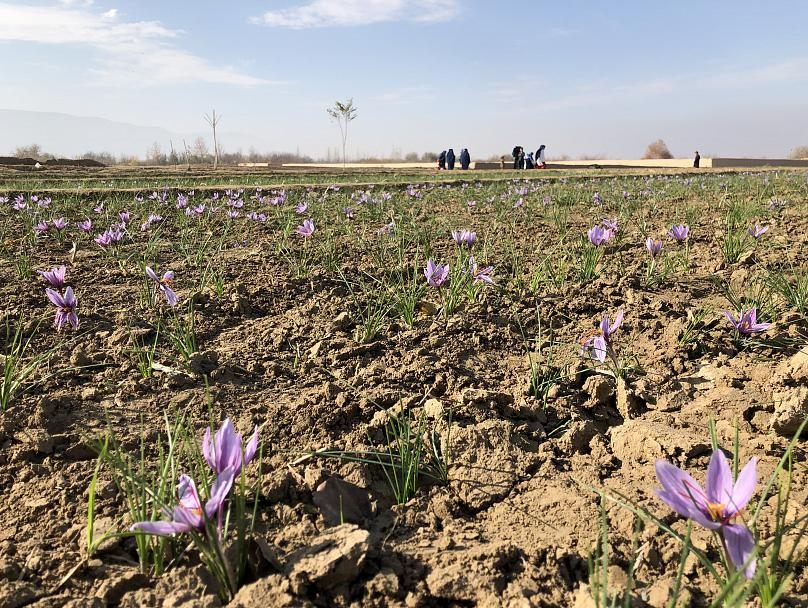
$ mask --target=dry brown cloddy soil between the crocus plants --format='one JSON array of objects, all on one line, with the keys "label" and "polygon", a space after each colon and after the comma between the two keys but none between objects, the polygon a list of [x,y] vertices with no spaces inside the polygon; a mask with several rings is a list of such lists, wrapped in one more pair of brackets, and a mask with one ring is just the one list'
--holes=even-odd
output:
[{"label": "dry brown cloddy soil between the crocus plants", "polygon": [[[598,214],[608,215],[589,203],[593,191],[606,187],[589,180],[574,187],[584,201],[569,219],[570,233],[578,235]],[[646,185],[632,179],[617,189],[623,187],[637,192]],[[508,188],[513,185],[503,182],[501,189]],[[529,195],[526,209],[532,215],[517,222],[526,275],[558,241],[556,227],[541,215],[541,188]],[[0,607],[221,605],[194,551],[160,578],[138,571],[131,538],[86,555],[87,496],[96,464],[88,440],[110,425],[135,452],[141,434],[150,441],[163,433],[165,412],[190,412],[200,438],[211,410],[217,420],[230,416],[242,433],[261,425],[257,536],[264,560],[229,604],[243,608],[593,605],[587,557],[600,512],[593,489],[619,491],[683,531],[685,522],[654,495],[654,462],[668,459],[701,481],[711,453],[710,418],[728,449],[737,425],[742,462],[756,456],[760,479],[768,479],[808,407],[808,327],[802,315],[783,308],[768,335],[788,347],[739,350],[721,314],[729,304],[715,277],[743,289],[767,264],[790,256],[804,265],[808,197],[793,198],[777,217],[761,218],[772,225],[769,244],[739,264],[722,261],[722,212],[712,199],[693,194],[649,215],[650,229],[661,236],[685,205],[698,210],[689,272],[662,286],[644,286],[644,238],[632,225],[607,251],[594,281],[532,289],[508,279],[516,262],[504,258],[496,239],[509,224],[500,228],[493,204],[480,200],[476,208],[467,207],[469,197],[459,189],[435,188],[420,207],[406,203],[414,221],[440,216],[441,228],[477,230],[481,242],[502,256],[488,254],[500,287],[485,290],[448,322],[434,314],[435,294],[426,293],[412,327],[388,319],[372,340],[358,340],[359,314],[345,282],[323,268],[295,276],[277,253],[279,237],[267,224],[250,229],[246,244],[221,253],[226,279],[221,298],[185,280],[196,270],[178,250],[161,249],[160,267],[176,272],[181,300],[193,303],[200,353],[190,369],[167,358],[168,371],[150,378],[138,373],[131,356],[130,328],[153,329],[138,308],[143,279],[132,260],[118,264],[90,242],[71,261],[70,239],[38,241],[32,267],[66,264],[79,299],[79,330],[57,334],[46,329],[53,311],[41,278],[21,279],[12,257],[4,256],[4,317],[24,313],[27,335],[34,319],[47,319],[32,348],[56,347],[59,355],[0,419]],[[403,189],[395,196],[407,197]],[[127,195],[120,204],[132,207],[130,201]],[[70,204],[86,208],[95,202]],[[115,204],[108,202],[110,208]],[[133,226],[146,209],[136,212]],[[326,225],[325,214],[321,219],[311,213]],[[78,211],[65,214],[72,221],[84,217]],[[11,216],[3,217],[8,226]],[[368,222],[362,230],[372,239],[376,226]],[[447,232],[440,234],[433,254],[453,259],[454,243]],[[18,236],[6,234],[8,251]],[[348,242],[350,235],[341,238],[350,252],[342,258],[343,273],[372,269],[370,258],[354,251],[359,245]],[[143,238],[133,239],[127,250],[142,247]],[[666,241],[665,247],[675,245]],[[424,261],[413,260],[419,267]],[[578,352],[602,314],[613,316],[620,308],[626,316],[618,344],[642,368],[628,381],[593,372]],[[700,308],[710,312],[699,339],[680,345],[688,313]],[[522,332],[535,337],[550,328],[563,345],[566,371],[545,403],[530,394],[529,347]],[[546,348],[546,338],[539,345]],[[378,467],[299,458],[323,448],[380,445],[388,408],[423,412],[433,421],[450,451],[448,485],[424,480],[414,498],[395,505]],[[795,516],[804,514],[808,503],[803,448],[804,442],[796,452]],[[257,470],[249,469],[251,481]],[[370,517],[327,525],[313,493],[334,477],[369,490]],[[131,523],[104,469],[97,511],[96,533]],[[773,525],[766,513],[759,525],[762,537]],[[626,581],[635,521],[614,506],[609,517],[609,574],[617,589]],[[695,530],[693,542],[712,546],[715,554],[707,531]],[[676,575],[678,543],[653,525],[639,532],[638,543],[635,605],[664,606]],[[686,564],[684,584],[692,605],[706,605],[715,592],[695,559]],[[804,565],[781,601],[808,605]]]}]

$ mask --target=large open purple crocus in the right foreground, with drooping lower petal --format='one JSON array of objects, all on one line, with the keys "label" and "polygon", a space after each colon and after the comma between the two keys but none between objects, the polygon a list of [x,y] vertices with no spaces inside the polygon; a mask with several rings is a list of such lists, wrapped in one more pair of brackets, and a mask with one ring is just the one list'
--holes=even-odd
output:
[{"label": "large open purple crocus in the right foreground, with drooping lower petal", "polygon": [[656,461],[657,479],[662,484],[662,489],[657,490],[660,500],[679,515],[718,531],[727,557],[735,568],[744,568],[746,578],[752,578],[755,573],[756,560],[750,560],[755,538],[745,525],[730,522],[755,493],[755,468],[756,459],[752,458],[733,483],[727,458],[721,450],[716,450],[707,467],[705,489],[680,468],[664,460]]}]

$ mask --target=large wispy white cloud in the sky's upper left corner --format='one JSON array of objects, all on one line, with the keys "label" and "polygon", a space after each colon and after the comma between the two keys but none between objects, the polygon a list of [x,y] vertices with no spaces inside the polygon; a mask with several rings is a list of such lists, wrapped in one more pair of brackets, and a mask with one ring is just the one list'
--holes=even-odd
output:
[{"label": "large wispy white cloud in the sky's upper left corner", "polygon": [[269,84],[179,48],[181,30],[157,21],[119,20],[117,9],[93,10],[92,0],[59,0],[52,6],[0,2],[0,42],[72,44],[98,53],[92,71],[99,84],[150,86],[206,82],[236,86]]}]

